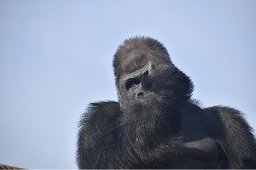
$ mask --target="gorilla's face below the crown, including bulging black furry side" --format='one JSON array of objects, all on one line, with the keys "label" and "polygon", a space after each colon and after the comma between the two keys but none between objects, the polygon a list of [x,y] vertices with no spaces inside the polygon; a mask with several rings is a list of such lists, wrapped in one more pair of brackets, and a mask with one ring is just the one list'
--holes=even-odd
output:
[{"label": "gorilla's face below the crown, including bulging black furry side", "polygon": [[[126,71],[119,79],[119,99],[123,111],[164,111],[186,101],[191,82],[173,64],[148,60],[127,60]],[[138,61],[142,61],[138,63]],[[139,66],[139,67],[138,67]],[[124,72],[124,71],[123,71]],[[175,97],[174,97],[175,96]]]}]

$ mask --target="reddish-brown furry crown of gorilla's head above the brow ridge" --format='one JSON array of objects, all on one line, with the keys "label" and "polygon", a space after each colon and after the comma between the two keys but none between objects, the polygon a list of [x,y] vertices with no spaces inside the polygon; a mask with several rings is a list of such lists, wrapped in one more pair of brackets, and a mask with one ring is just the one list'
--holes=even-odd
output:
[{"label": "reddish-brown furry crown of gorilla's head above the brow ridge", "polygon": [[148,62],[154,65],[170,64],[171,59],[162,43],[149,37],[126,39],[114,55],[113,67],[116,83],[121,76],[141,69]]}]

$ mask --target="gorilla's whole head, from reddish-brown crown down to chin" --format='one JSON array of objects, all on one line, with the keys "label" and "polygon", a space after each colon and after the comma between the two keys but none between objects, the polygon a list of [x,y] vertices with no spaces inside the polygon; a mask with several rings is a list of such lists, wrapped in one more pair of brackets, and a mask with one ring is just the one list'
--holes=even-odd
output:
[{"label": "gorilla's whole head, from reddish-brown crown down to chin", "polygon": [[149,37],[126,39],[113,61],[121,110],[179,107],[193,90],[188,76],[172,64],[162,43]]}]

